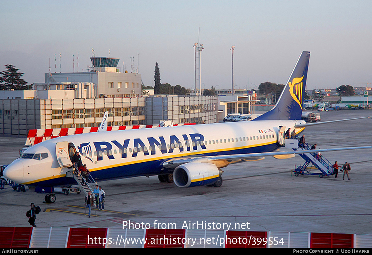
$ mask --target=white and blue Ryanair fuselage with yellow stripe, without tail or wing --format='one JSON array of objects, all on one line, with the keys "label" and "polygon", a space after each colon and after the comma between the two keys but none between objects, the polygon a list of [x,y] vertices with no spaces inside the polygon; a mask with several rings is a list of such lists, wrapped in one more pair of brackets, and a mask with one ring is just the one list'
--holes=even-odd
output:
[{"label": "white and blue Ryanair fuselage with yellow stripe, without tail or wing", "polygon": [[[305,122],[260,120],[63,136],[27,149],[25,154],[48,156],[16,159],[4,170],[4,175],[33,186],[73,183],[73,178],[65,177],[71,169],[58,164],[56,144],[61,141],[74,144],[82,163],[96,180],[158,175],[173,171],[164,171],[162,166],[169,159],[273,151],[278,148],[279,127],[293,130],[300,123]],[[303,129],[296,129],[296,133]]]}]

